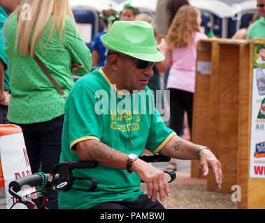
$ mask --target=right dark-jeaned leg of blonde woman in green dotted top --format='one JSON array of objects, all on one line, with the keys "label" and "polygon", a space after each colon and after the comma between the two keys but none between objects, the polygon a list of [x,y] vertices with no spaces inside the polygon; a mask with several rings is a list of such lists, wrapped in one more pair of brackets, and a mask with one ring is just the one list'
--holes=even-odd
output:
[{"label": "right dark-jeaned leg of blonde woman in green dotted top", "polygon": [[[45,174],[50,173],[55,164],[59,163],[62,151],[62,128],[64,116],[59,116],[41,123],[41,171]],[[50,191],[47,208],[58,209],[58,196],[56,190]]]}]

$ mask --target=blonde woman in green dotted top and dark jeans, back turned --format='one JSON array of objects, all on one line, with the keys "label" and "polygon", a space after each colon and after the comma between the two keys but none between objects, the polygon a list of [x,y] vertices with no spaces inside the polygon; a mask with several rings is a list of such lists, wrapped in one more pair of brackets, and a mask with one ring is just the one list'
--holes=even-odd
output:
[{"label": "blonde woman in green dotted top and dark jeans, back turned", "polygon": [[[80,74],[92,67],[69,0],[22,1],[6,24],[5,51],[11,89],[8,120],[23,130],[31,171],[48,173],[59,162],[65,99],[33,59],[34,53],[66,95],[73,86],[72,64]],[[57,208],[56,193],[50,195],[48,208]]]}]

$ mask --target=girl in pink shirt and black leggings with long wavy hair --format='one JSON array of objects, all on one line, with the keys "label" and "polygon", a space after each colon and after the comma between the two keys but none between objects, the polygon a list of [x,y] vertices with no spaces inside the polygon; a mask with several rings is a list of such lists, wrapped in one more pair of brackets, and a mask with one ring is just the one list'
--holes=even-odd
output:
[{"label": "girl in pink shirt and black leggings with long wavy hair", "polygon": [[[190,132],[192,132],[192,105],[195,87],[196,45],[207,36],[200,32],[201,13],[198,9],[186,5],[181,6],[173,19],[166,36],[166,45],[160,50],[166,59],[162,62],[164,70],[171,68],[166,89],[170,93],[170,128],[180,135],[184,113],[187,118]],[[176,168],[172,162],[169,169]]]}]

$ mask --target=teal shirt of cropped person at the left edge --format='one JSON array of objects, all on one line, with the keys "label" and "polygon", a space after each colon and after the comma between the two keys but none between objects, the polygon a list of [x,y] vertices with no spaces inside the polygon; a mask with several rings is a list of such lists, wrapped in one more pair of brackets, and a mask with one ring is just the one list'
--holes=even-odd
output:
[{"label": "teal shirt of cropped person at the left edge", "polygon": [[[0,6],[0,35],[1,35],[0,37],[0,59],[3,61],[3,63],[6,63],[6,66],[8,66],[8,63],[6,59],[6,53],[4,51],[5,38],[3,38],[2,34],[3,34],[3,25],[5,24],[7,19],[8,19],[8,15],[6,14],[6,11],[3,10],[3,8]],[[5,91],[10,91],[7,69],[6,69],[5,76],[4,76],[3,87]]]}]

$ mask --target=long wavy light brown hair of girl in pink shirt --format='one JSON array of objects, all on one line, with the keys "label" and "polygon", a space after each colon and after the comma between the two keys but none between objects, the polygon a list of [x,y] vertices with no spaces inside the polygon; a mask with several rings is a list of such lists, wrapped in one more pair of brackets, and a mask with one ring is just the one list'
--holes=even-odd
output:
[{"label": "long wavy light brown hair of girl in pink shirt", "polygon": [[169,47],[187,47],[192,43],[192,37],[200,32],[197,19],[200,13],[193,6],[181,6],[173,19],[166,36]]}]

